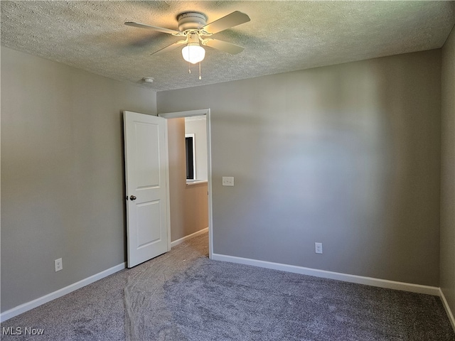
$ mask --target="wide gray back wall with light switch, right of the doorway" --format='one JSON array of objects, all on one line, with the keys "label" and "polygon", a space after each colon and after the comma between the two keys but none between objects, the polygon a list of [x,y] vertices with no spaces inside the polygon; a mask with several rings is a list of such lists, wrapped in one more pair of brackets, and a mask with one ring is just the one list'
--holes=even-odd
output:
[{"label": "wide gray back wall with light switch, right of the doorway", "polygon": [[440,50],[157,103],[211,110],[215,254],[439,286]]}]

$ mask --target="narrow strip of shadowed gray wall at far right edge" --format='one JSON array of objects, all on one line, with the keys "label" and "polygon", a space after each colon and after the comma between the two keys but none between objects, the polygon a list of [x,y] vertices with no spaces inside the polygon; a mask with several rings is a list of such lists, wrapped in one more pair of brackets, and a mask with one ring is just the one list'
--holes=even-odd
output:
[{"label": "narrow strip of shadowed gray wall at far right edge", "polygon": [[441,290],[455,313],[455,28],[442,49]]}]

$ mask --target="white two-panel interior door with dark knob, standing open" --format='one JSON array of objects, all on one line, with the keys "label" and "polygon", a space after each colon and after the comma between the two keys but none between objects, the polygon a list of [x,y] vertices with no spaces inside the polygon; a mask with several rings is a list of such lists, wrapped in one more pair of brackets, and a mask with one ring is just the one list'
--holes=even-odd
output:
[{"label": "white two-panel interior door with dark knob, standing open", "polygon": [[166,119],[124,112],[128,267],[171,249]]}]

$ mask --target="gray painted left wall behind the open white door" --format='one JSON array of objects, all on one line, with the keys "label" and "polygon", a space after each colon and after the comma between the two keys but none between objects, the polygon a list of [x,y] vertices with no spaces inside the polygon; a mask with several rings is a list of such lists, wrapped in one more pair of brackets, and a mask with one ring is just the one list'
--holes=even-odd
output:
[{"label": "gray painted left wall behind the open white door", "polygon": [[1,311],[125,261],[122,110],[156,93],[1,47]]}]

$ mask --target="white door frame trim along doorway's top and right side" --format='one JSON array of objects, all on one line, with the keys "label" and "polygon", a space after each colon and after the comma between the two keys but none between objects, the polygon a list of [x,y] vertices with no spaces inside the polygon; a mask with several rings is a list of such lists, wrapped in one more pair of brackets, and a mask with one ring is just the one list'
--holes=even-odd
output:
[{"label": "white door frame trim along doorway's top and right side", "polygon": [[[213,254],[213,220],[212,220],[212,138],[210,135],[210,109],[188,110],[186,112],[165,112],[158,114],[164,119],[204,116],[207,128],[207,188],[208,188],[208,257]],[[170,240],[170,236],[169,236]]]}]

